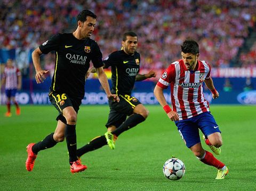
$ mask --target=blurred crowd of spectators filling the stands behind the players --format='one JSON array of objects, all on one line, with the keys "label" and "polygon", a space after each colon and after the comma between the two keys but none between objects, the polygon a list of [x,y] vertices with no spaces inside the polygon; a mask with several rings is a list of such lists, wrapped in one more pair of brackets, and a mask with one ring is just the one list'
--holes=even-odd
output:
[{"label": "blurred crowd of spectators filling the stands behind the players", "polygon": [[[34,49],[52,34],[72,32],[77,13],[90,9],[98,15],[92,38],[103,57],[121,48],[123,32],[132,30],[145,69],[166,68],[180,59],[177,47],[187,37],[198,41],[202,60],[232,66],[249,28],[256,26],[253,0],[2,0],[0,6],[0,48]],[[241,56],[243,62],[250,57],[245,65],[255,65],[255,46]]]}]

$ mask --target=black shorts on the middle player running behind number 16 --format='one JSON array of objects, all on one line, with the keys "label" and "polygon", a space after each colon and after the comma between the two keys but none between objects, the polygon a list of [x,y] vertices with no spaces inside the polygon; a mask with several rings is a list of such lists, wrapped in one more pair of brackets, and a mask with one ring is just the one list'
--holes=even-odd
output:
[{"label": "black shorts on the middle player running behind number 16", "polygon": [[106,127],[110,125],[119,127],[125,120],[126,117],[133,113],[135,106],[141,104],[139,99],[130,95],[118,95],[120,98],[119,103],[108,101],[110,112],[108,115],[108,122]]}]

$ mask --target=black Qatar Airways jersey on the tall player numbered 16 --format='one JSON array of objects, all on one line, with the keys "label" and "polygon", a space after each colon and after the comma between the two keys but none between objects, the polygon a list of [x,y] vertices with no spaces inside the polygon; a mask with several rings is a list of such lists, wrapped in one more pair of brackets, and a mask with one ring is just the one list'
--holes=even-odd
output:
[{"label": "black Qatar Airways jersey on the tall player numbered 16", "polygon": [[90,67],[103,66],[102,53],[95,40],[79,40],[73,34],[58,34],[41,46],[42,53],[55,51],[55,70],[51,91],[66,93],[73,98],[84,98],[85,74]]}]

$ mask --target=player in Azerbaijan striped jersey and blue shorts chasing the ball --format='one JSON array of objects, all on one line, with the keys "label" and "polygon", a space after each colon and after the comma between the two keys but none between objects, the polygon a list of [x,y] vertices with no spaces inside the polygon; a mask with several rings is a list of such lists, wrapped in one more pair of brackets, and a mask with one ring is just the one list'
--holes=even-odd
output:
[{"label": "player in Azerbaijan striped jersey and blue shorts chasing the ball", "polygon": [[[223,179],[228,173],[228,168],[212,153],[203,149],[199,137],[200,129],[204,134],[205,143],[215,154],[220,154],[221,131],[203,95],[205,82],[212,92],[212,97],[219,97],[210,76],[211,67],[207,62],[198,60],[199,46],[193,39],[187,39],[182,43],[181,56],[181,60],[171,63],[162,74],[154,94],[167,116],[175,122],[186,146],[197,159],[218,169],[215,179]],[[171,87],[172,109],[163,94],[163,90],[168,86]]]}]

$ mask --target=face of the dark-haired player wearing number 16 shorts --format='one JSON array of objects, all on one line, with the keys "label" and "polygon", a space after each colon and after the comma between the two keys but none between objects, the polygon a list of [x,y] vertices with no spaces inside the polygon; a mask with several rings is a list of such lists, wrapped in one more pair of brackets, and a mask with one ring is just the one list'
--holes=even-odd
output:
[{"label": "face of the dark-haired player wearing number 16 shorts", "polygon": [[81,28],[82,38],[90,38],[92,32],[94,31],[94,26],[96,24],[96,19],[91,16],[86,17],[86,21],[78,21],[78,26]]}]

